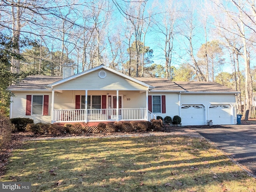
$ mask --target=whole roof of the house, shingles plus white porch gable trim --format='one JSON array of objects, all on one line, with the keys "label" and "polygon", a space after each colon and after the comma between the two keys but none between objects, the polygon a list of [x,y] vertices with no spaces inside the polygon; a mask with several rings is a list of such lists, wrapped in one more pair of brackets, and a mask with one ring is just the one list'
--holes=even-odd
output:
[{"label": "whole roof of the house, shingles plus white porch gable trim", "polygon": [[82,73],[70,76],[68,78],[62,79],[62,76],[28,76],[20,84],[11,85],[8,87],[11,91],[42,91],[49,90],[47,88],[52,88],[55,85],[67,82],[74,78],[78,78],[81,75],[86,75],[89,72],[104,68],[110,70],[124,78],[132,80],[138,84],[148,86],[151,92],[182,92],[182,93],[226,93],[234,94],[238,93],[236,90],[232,90],[226,86],[218,84],[216,82],[173,82],[166,78],[132,78],[130,76],[124,75],[116,70],[110,69],[104,65],[100,65],[96,68],[84,71]]}]

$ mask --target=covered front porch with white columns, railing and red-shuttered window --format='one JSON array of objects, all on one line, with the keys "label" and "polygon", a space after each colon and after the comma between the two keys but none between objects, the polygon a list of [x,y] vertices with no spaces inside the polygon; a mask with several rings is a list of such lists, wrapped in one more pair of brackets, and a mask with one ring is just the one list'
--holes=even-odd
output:
[{"label": "covered front porch with white columns, railing and red-shuttered window", "polygon": [[148,91],[52,90],[52,123],[150,121]]}]

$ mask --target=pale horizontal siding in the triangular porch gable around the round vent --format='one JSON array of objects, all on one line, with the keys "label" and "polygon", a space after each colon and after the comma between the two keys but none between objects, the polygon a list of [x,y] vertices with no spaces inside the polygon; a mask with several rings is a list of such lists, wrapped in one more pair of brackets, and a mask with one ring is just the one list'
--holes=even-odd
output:
[{"label": "pale horizontal siding in the triangular porch gable around the round vent", "polygon": [[85,74],[76,79],[54,86],[56,90],[147,90],[146,87],[118,76],[110,71],[105,78],[100,78],[100,70]]}]

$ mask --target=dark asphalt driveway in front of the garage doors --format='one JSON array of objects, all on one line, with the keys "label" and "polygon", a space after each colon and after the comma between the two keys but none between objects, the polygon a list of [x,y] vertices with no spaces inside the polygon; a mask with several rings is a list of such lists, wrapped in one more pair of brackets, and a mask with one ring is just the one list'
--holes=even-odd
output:
[{"label": "dark asphalt driveway in front of the garage doors", "polygon": [[256,125],[193,128],[256,176]]}]

